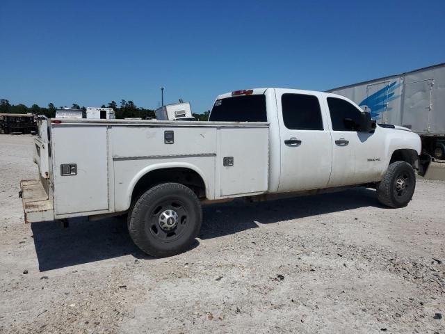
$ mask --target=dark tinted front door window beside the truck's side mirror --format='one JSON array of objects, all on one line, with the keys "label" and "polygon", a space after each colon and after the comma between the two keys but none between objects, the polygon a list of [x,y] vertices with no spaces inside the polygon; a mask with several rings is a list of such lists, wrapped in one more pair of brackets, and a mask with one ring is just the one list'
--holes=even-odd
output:
[{"label": "dark tinted front door window beside the truck's side mirror", "polygon": [[331,114],[332,130],[357,131],[362,111],[348,101],[337,97],[327,97],[327,106]]}]

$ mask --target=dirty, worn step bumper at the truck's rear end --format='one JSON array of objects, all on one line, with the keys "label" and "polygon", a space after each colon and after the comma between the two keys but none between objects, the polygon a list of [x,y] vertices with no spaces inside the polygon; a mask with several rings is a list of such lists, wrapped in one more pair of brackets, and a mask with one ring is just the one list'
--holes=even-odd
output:
[{"label": "dirty, worn step bumper at the truck's rear end", "polygon": [[54,221],[54,203],[48,198],[40,180],[20,181],[25,223]]}]

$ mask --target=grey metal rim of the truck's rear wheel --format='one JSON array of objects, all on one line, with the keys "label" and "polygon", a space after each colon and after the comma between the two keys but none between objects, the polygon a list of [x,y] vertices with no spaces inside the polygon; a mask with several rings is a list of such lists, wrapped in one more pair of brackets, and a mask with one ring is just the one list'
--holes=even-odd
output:
[{"label": "grey metal rim of the truck's rear wheel", "polygon": [[152,236],[161,241],[173,241],[180,237],[187,221],[188,211],[185,205],[175,199],[159,202],[146,219]]}]

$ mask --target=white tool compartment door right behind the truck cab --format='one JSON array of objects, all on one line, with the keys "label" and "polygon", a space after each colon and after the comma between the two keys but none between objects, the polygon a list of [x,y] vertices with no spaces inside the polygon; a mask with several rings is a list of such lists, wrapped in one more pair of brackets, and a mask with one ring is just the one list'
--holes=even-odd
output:
[{"label": "white tool compartment door right behind the truck cab", "polygon": [[268,189],[268,127],[220,129],[220,196]]}]

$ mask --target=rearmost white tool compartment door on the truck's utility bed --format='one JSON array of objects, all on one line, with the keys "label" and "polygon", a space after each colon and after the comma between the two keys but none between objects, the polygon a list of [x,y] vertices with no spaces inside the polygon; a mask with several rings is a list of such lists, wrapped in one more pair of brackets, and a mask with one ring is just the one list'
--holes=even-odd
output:
[{"label": "rearmost white tool compartment door on the truck's utility bed", "polygon": [[[56,215],[107,210],[106,127],[55,125],[52,134]],[[67,166],[72,168],[70,175]]]}]

